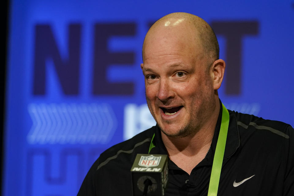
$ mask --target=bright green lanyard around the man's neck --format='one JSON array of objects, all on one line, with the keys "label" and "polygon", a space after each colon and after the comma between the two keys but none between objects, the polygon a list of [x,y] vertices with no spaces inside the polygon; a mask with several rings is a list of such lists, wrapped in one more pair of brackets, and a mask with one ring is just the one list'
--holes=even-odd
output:
[{"label": "bright green lanyard around the man's neck", "polygon": [[[229,127],[229,112],[226,107],[224,107],[224,104],[222,104],[223,112],[221,115],[221,124],[220,124],[220,133],[218,135],[217,139],[217,147],[215,149],[214,158],[213,158],[213,164],[212,164],[212,170],[210,175],[210,181],[209,181],[209,187],[208,187],[208,196],[216,196],[217,195],[217,189],[220,182],[220,171],[221,166],[223,164],[224,159],[224,148],[226,146],[227,141],[227,134],[228,134],[228,127]],[[150,150],[155,147],[153,144],[153,138],[155,134],[153,134],[151,144],[149,146],[149,152]]]}]

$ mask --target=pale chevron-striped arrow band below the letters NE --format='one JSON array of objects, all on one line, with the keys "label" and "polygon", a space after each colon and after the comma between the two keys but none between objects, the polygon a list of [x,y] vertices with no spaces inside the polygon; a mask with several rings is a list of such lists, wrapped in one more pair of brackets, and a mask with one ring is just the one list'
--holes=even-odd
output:
[{"label": "pale chevron-striped arrow band below the letters NE", "polygon": [[29,144],[105,144],[117,128],[108,104],[29,104]]}]

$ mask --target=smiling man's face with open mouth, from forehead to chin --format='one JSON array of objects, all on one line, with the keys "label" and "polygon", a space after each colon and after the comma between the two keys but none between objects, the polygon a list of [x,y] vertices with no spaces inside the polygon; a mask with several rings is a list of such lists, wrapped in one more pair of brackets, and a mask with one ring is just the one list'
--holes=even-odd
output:
[{"label": "smiling man's face with open mouth, from forehead to chin", "polygon": [[146,100],[164,134],[185,137],[199,130],[215,107],[212,79],[200,44],[187,35],[163,35],[145,39]]}]

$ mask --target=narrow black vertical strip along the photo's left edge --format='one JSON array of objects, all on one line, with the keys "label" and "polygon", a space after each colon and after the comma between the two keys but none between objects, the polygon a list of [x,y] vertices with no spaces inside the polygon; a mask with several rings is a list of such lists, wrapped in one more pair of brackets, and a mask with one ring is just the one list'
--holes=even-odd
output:
[{"label": "narrow black vertical strip along the photo's left edge", "polygon": [[1,75],[0,75],[0,87],[1,87],[1,104],[0,104],[0,109],[1,109],[1,120],[0,120],[0,139],[1,139],[1,145],[0,145],[0,194],[2,193],[2,171],[3,171],[3,149],[4,149],[4,139],[3,139],[3,130],[4,130],[4,117],[5,117],[5,80],[6,80],[6,63],[7,63],[7,43],[8,43],[8,20],[9,20],[9,0],[3,1],[2,2],[2,9],[3,10],[3,15],[2,16],[4,18],[4,24],[3,24],[3,28],[4,28],[4,33],[5,35],[2,37],[4,44],[2,45],[2,48],[4,49],[3,51],[5,51],[4,53],[2,53],[2,55],[4,55],[4,57],[2,57],[2,59],[4,59],[2,62],[1,69],[2,71],[0,71]]}]

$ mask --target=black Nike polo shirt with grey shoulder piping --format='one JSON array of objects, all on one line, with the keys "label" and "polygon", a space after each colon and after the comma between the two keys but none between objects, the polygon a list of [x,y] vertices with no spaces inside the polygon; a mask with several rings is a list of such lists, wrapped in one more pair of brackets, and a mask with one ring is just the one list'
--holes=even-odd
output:
[{"label": "black Nike polo shirt with grey shoulder piping", "polygon": [[[169,160],[169,180],[165,195],[207,195],[221,114],[222,111],[208,154],[190,175]],[[229,114],[218,195],[293,196],[293,128],[254,115],[235,111],[229,111]],[[86,175],[78,196],[132,195],[130,169],[138,153],[148,154],[154,133],[155,147],[150,154],[167,154],[160,129],[153,126],[102,153]]]}]

